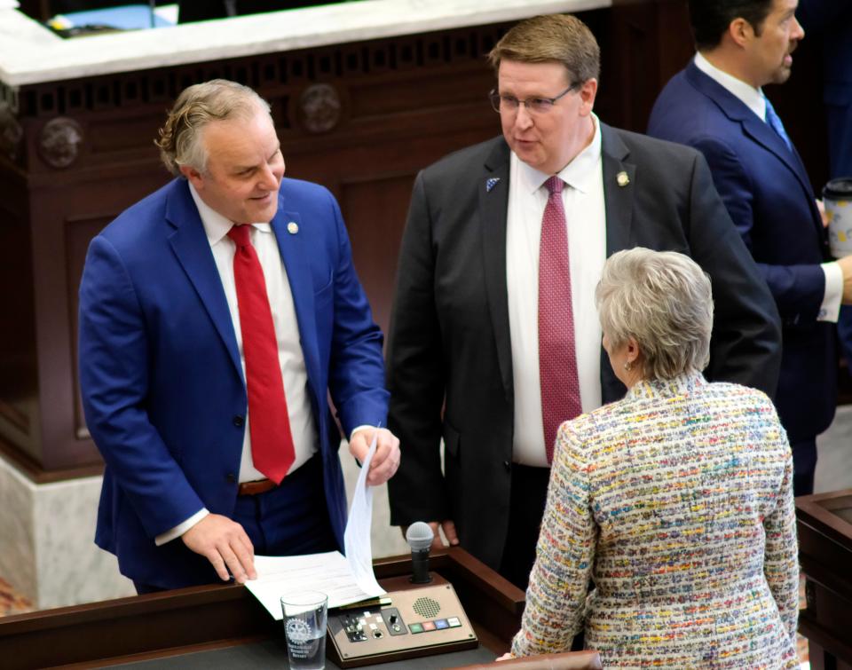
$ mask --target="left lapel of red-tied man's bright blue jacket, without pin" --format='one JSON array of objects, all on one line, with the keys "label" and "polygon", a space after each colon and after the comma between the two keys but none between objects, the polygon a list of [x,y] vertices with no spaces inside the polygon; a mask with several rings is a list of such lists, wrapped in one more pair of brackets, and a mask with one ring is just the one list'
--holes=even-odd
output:
[{"label": "left lapel of red-tied man's bright blue jacket, without pin", "polygon": [[204,309],[207,310],[213,326],[225,344],[225,349],[228,350],[233,367],[242,379],[240,351],[233,332],[228,301],[222,289],[222,280],[213,260],[209,240],[204,233],[204,225],[201,224],[201,217],[185,179],[172,182],[166,196],[166,221],[173,228],[169,241],[177,261],[201,298]]}]

